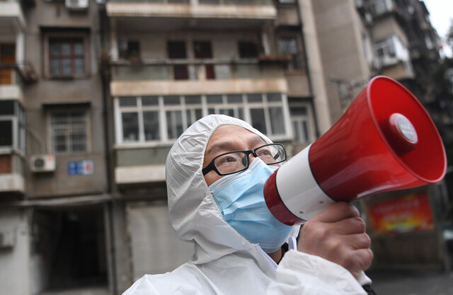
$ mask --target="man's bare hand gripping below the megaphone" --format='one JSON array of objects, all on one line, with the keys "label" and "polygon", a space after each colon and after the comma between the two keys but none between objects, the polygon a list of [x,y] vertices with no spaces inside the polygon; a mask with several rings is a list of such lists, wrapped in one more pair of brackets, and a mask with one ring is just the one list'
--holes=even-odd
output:
[{"label": "man's bare hand gripping below the megaphone", "polygon": [[297,250],[335,262],[357,278],[372,263],[370,244],[357,208],[338,202],[302,226]]}]

